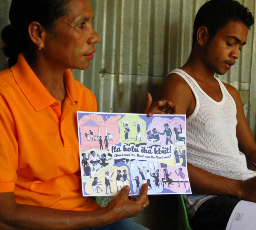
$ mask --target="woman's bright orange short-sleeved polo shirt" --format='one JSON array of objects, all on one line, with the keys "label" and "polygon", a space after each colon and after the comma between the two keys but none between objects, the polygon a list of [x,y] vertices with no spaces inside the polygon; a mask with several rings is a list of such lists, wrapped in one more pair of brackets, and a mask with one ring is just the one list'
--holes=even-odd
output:
[{"label": "woman's bright orange short-sleeved polo shirt", "polygon": [[0,192],[17,203],[62,210],[101,208],[82,196],[76,111],[97,111],[93,93],[64,73],[56,101],[24,56],[0,72]]}]

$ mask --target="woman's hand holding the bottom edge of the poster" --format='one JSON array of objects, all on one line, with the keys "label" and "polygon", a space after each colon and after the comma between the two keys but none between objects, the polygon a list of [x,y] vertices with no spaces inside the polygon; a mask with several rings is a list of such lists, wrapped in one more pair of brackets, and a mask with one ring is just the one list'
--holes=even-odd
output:
[{"label": "woman's hand holding the bottom edge of the poster", "polygon": [[108,205],[105,207],[107,213],[112,215],[115,221],[126,219],[130,217],[136,217],[145,207],[148,206],[149,201],[147,197],[148,185],[143,184],[140,197],[136,200],[133,197],[129,197],[129,186],[124,186],[120,194],[114,197]]}]

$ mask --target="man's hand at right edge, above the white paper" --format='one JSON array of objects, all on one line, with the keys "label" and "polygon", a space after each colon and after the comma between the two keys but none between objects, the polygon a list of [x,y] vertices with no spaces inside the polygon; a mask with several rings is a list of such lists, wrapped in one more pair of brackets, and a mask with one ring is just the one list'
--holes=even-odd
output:
[{"label": "man's hand at right edge, above the white paper", "polygon": [[240,181],[241,190],[237,197],[243,200],[256,202],[256,176],[248,180]]}]

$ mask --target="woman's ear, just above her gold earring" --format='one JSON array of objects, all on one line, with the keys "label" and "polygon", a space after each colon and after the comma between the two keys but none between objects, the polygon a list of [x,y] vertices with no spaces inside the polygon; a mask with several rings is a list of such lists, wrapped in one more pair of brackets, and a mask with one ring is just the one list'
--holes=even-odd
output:
[{"label": "woman's ear, just above her gold earring", "polygon": [[44,48],[45,30],[38,22],[31,22],[29,24],[29,36],[32,42],[34,42],[37,47]]}]

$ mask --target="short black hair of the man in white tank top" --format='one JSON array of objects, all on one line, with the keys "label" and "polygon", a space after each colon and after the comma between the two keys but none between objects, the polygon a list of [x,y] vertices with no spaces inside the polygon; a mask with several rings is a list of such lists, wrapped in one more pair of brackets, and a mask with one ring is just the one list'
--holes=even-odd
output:
[{"label": "short black hair of the man in white tank top", "polygon": [[248,28],[254,24],[252,13],[235,0],[210,0],[199,9],[196,14],[193,31],[193,46],[196,42],[197,30],[205,26],[213,38],[218,30],[230,21],[240,21]]}]

